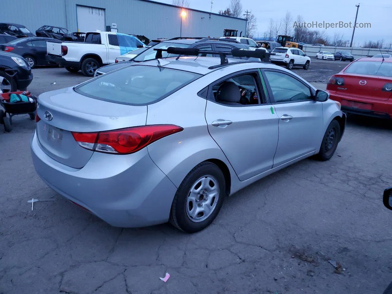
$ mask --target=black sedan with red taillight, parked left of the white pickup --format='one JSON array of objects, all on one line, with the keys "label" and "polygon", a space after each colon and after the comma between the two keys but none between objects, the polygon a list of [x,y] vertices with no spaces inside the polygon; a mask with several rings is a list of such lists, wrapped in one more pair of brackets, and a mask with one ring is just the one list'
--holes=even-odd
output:
[{"label": "black sedan with red taillight, parked left of the white pickup", "polygon": [[45,59],[46,55],[46,41],[53,40],[50,38],[21,38],[16,39],[6,44],[0,45],[0,50],[11,52],[22,56],[31,68],[37,65],[47,65]]}]

